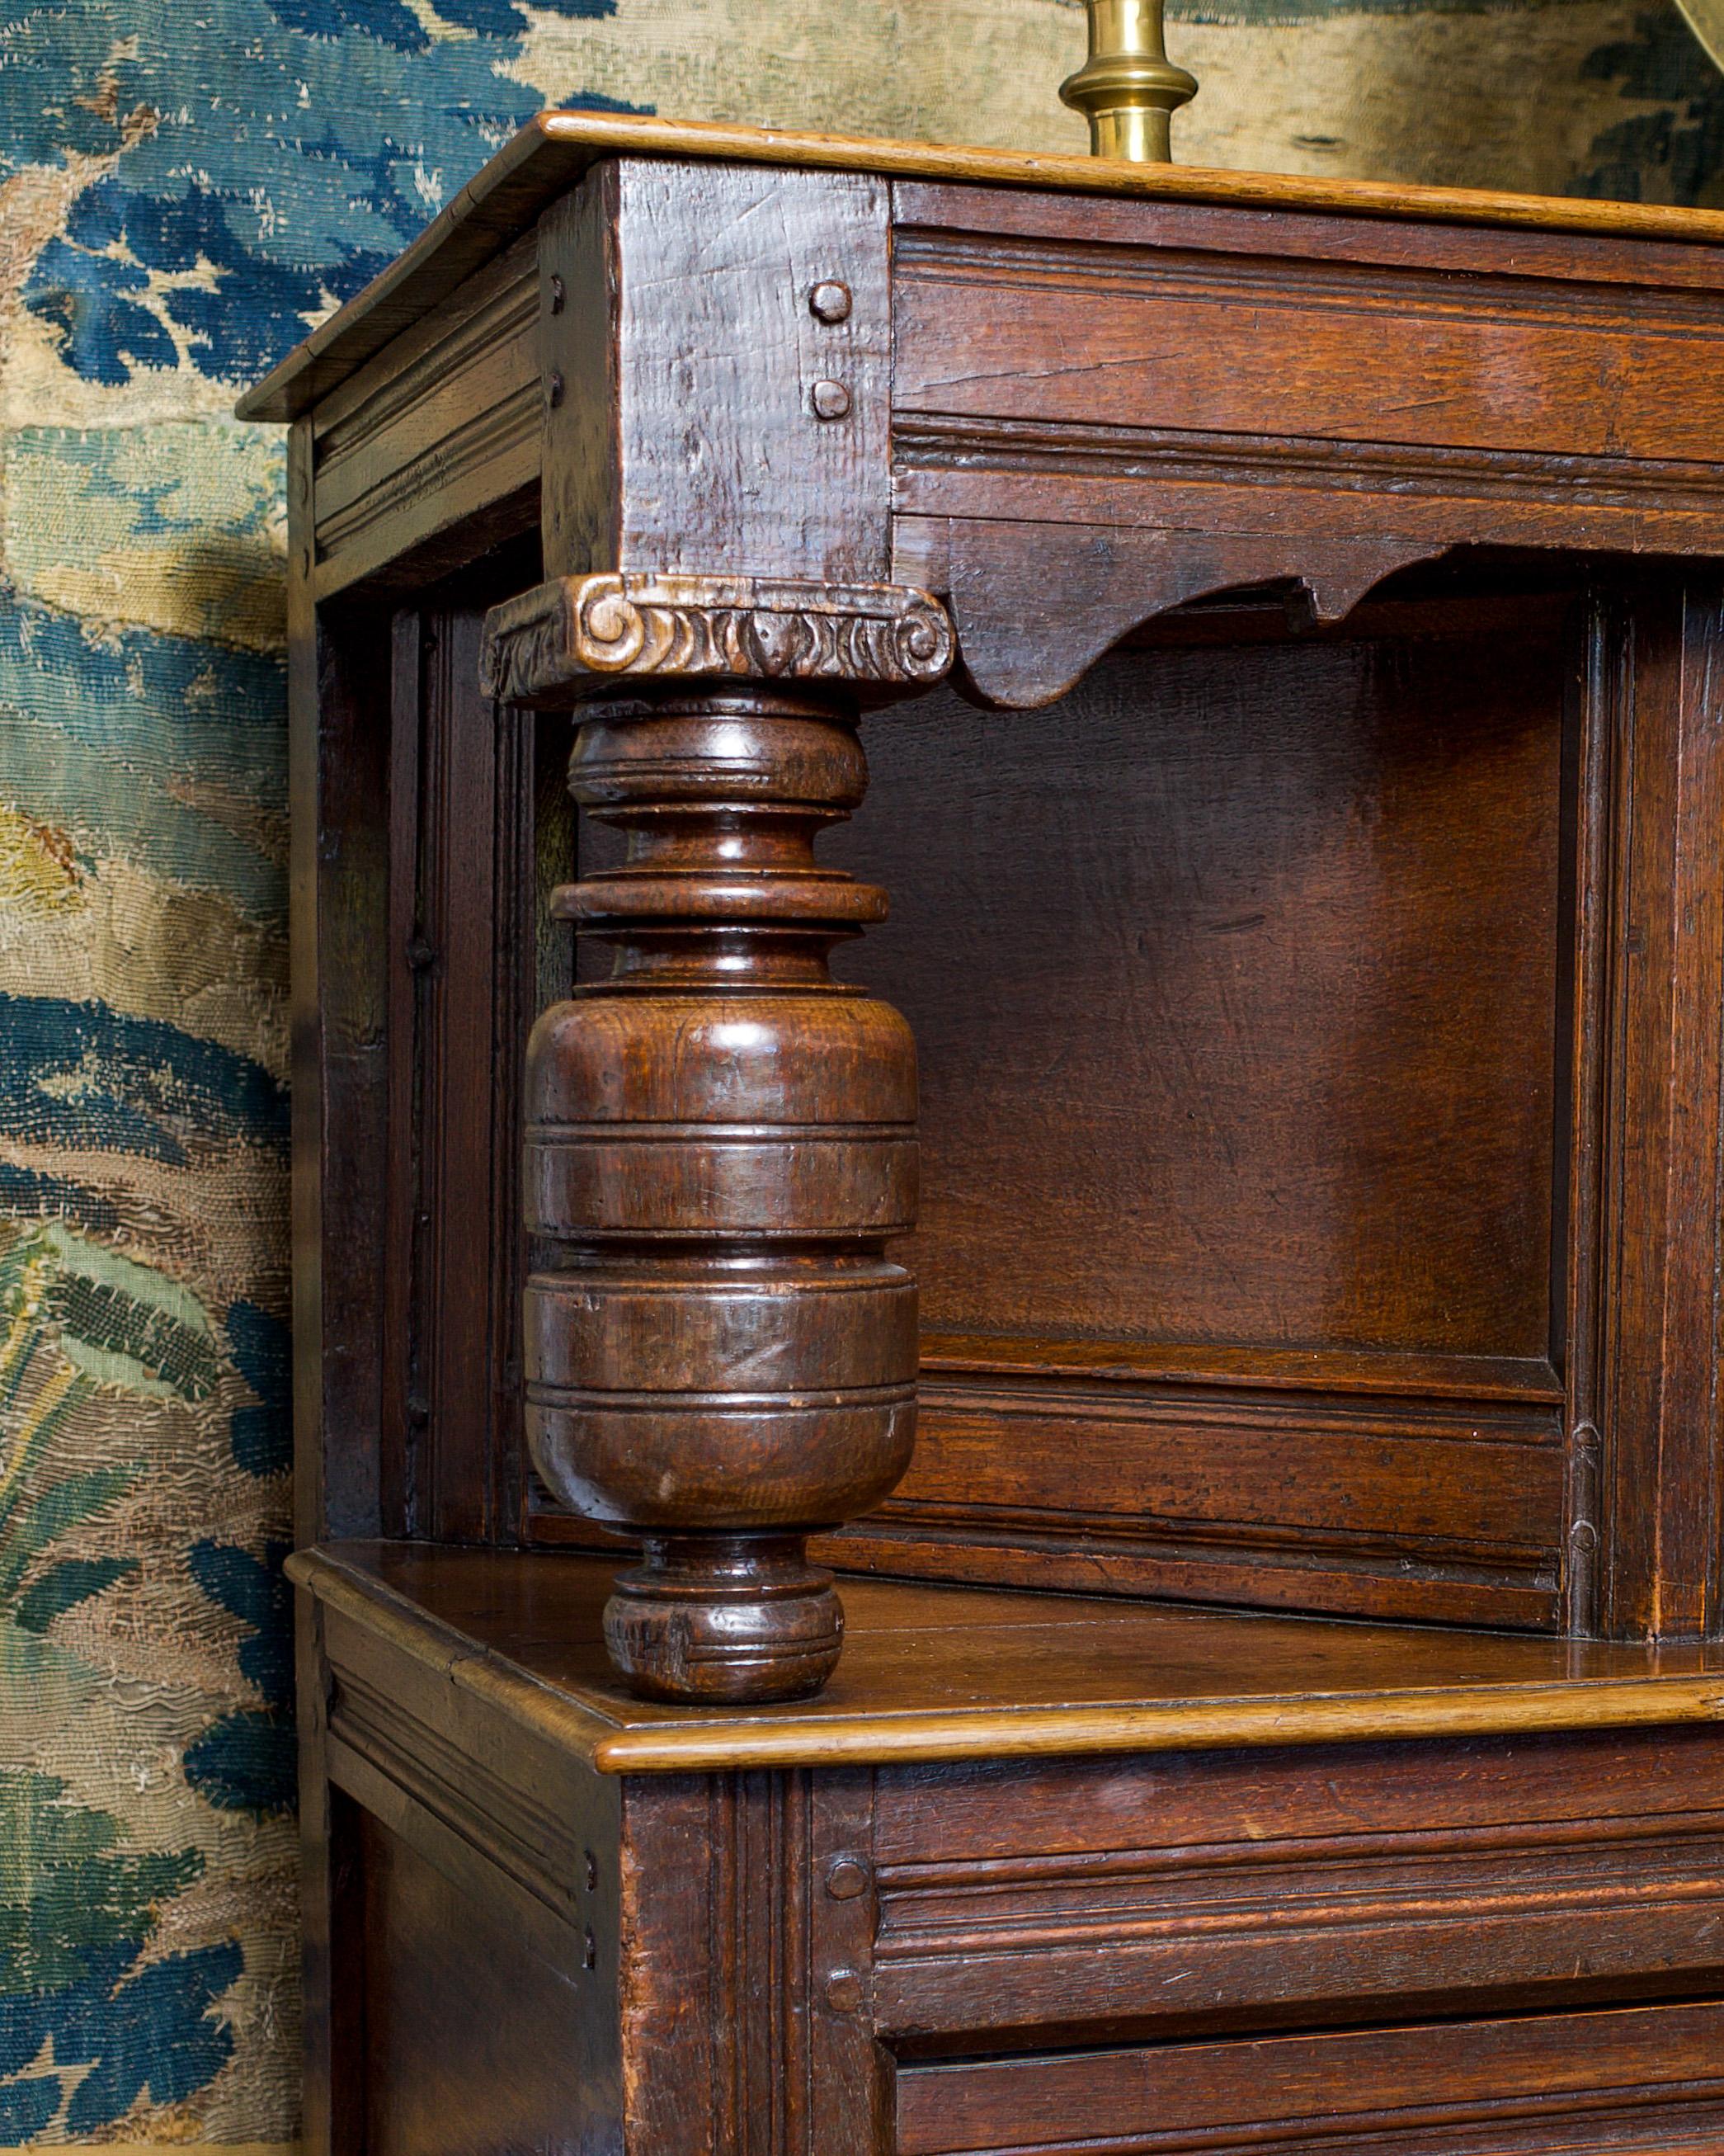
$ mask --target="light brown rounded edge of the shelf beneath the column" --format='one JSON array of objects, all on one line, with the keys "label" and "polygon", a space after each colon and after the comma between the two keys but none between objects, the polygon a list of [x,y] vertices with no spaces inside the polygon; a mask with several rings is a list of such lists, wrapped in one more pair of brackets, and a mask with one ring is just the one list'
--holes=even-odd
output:
[{"label": "light brown rounded edge of the shelf beneath the column", "polygon": [[[356,1552],[360,1554],[360,1552]],[[569,1561],[500,1552],[524,1563]],[[606,1563],[601,1559],[601,1563]],[[909,1766],[957,1759],[1213,1751],[1222,1746],[1345,1744],[1407,1738],[1528,1736],[1674,1727],[1724,1720],[1724,1669],[1644,1675],[1384,1686],[1101,1705],[963,1710],[642,1708],[614,1692],[556,1684],[474,1641],[340,1550],[302,1550],[289,1578],[397,1649],[573,1749],[601,1774],[690,1774],[735,1768]],[[1069,1608],[1073,1598],[1049,1595]],[[1103,1604],[1106,1608],[1106,1604]],[[1209,1613],[1222,1617],[1224,1613]],[[1265,1613],[1241,1621],[1261,1623]],[[1271,1619],[1274,1621],[1274,1619]],[[1289,1623],[1310,1619],[1289,1617]],[[1392,1628],[1384,1628],[1392,1630]]]}]

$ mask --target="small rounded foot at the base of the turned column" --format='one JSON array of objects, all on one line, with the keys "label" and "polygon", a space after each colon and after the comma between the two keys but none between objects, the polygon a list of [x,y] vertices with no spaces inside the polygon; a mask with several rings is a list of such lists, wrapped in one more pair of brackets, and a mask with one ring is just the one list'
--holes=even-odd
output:
[{"label": "small rounded foot at the base of the turned column", "polygon": [[646,1699],[808,1699],[843,1639],[832,1574],[802,1535],[651,1537],[606,1604],[610,1658]]}]

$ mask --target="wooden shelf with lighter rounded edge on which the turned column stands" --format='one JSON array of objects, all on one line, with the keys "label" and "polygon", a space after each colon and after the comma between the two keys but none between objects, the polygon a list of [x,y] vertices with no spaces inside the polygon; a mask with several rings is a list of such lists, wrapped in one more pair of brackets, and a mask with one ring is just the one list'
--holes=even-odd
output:
[{"label": "wooden shelf with lighter rounded edge on which the turned column stands", "polygon": [[1603,1647],[1080,1595],[840,1580],[845,1658],[787,1708],[631,1699],[612,1559],[334,1544],[293,1578],[601,1772],[1190,1751],[1724,1718],[1724,1647]]}]

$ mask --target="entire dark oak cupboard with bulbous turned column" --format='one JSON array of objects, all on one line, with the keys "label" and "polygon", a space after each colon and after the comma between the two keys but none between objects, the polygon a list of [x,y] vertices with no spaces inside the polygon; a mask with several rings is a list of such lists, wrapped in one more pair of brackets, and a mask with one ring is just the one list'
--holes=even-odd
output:
[{"label": "entire dark oak cupboard with bulbous turned column", "polygon": [[552,112],[248,395],[317,2150],[1724,2150],[1722,338]]}]

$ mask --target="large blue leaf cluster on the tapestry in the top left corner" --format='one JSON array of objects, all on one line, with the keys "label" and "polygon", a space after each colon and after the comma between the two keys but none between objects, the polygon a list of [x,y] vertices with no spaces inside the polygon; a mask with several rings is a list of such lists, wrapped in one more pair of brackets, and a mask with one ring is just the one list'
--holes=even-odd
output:
[{"label": "large blue leaf cluster on the tapestry in the top left corner", "polygon": [[0,0],[0,177],[114,164],[26,287],[67,364],[125,384],[183,354],[244,382],[375,276],[539,110],[504,73],[524,6],[442,0],[437,19],[448,34],[405,0]]}]

